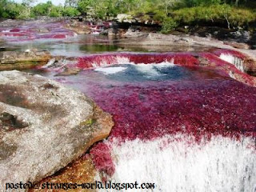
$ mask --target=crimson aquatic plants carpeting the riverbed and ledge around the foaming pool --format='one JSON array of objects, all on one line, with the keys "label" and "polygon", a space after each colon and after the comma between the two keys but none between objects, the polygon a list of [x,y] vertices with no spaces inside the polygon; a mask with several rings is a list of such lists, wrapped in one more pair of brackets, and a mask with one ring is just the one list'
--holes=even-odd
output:
[{"label": "crimson aquatic plants carpeting the riverbed and ledge around the foaming pool", "polygon": [[[133,63],[174,62],[191,73],[174,81],[118,82],[111,78],[89,82],[84,78],[58,78],[58,81],[82,90],[86,95],[113,115],[114,127],[106,143],[98,143],[91,150],[97,170],[114,174],[114,163],[109,144],[127,140],[142,141],[162,138],[165,135],[182,135],[196,142],[208,142],[221,135],[240,139],[256,137],[256,88],[230,78],[230,73],[244,79],[252,78],[216,54],[200,53],[207,60],[202,67],[194,54],[92,54],[79,58],[75,67],[113,65],[118,58]],[[83,70],[78,76],[92,75]],[[97,79],[98,78],[97,76]],[[191,136],[191,137],[190,137]],[[187,141],[189,145],[194,140]],[[160,149],[168,142],[162,143]]]}]

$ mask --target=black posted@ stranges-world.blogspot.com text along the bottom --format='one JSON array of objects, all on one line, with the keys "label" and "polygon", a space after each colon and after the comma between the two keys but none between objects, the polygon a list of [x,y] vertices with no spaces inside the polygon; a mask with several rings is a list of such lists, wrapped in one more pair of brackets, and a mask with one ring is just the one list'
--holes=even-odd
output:
[{"label": "black posted@ stranges-world.blogspot.com text along the bottom", "polygon": [[151,182],[85,182],[85,183],[55,183],[55,182],[44,182],[38,184],[34,184],[32,182],[18,182],[6,183],[6,190],[18,190],[18,189],[41,189],[41,190],[74,190],[74,189],[82,189],[82,190],[154,190],[155,183]]}]

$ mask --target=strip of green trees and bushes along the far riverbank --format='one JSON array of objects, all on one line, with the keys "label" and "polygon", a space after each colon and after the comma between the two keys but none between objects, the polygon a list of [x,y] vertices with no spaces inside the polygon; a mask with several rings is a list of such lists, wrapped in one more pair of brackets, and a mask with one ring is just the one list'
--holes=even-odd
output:
[{"label": "strip of green trees and bushes along the far riverbank", "polygon": [[165,34],[184,25],[212,23],[226,28],[248,27],[256,20],[254,0],[66,0],[65,6],[54,6],[50,1],[32,6],[34,4],[34,0],[23,0],[20,4],[0,0],[0,18],[86,15],[112,19],[118,14],[128,14],[161,23]]}]

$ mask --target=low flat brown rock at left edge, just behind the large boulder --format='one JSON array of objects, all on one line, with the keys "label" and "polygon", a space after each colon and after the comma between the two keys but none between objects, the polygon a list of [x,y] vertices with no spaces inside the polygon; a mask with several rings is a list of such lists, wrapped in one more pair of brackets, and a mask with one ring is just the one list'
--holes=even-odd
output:
[{"label": "low flat brown rock at left edge, just behind the large boulder", "polygon": [[45,65],[50,58],[48,51],[2,51],[0,52],[0,70],[22,70]]}]

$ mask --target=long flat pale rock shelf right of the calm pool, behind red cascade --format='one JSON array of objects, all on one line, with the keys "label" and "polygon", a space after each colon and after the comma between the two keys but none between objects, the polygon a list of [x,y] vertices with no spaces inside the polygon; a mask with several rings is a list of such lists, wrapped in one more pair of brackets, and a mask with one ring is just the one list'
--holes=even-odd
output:
[{"label": "long flat pale rock shelf right of the calm pool, behind red cascade", "polygon": [[[249,50],[249,47],[244,43],[222,42],[215,38],[202,38],[188,34],[173,35],[149,33],[148,35],[138,37],[137,32],[133,32],[131,30],[129,32],[129,36],[129,39],[126,37],[126,40],[119,41],[118,45],[150,46],[150,50],[153,50],[154,46],[160,46],[160,50],[165,51],[175,50],[173,49],[174,47],[178,47],[179,51],[202,51],[215,48],[235,50],[246,56],[246,61],[244,62],[246,71],[250,71],[250,74],[255,74],[256,71],[256,50]],[[166,46],[168,46],[167,49]],[[159,51],[158,49],[156,50]]]}]

